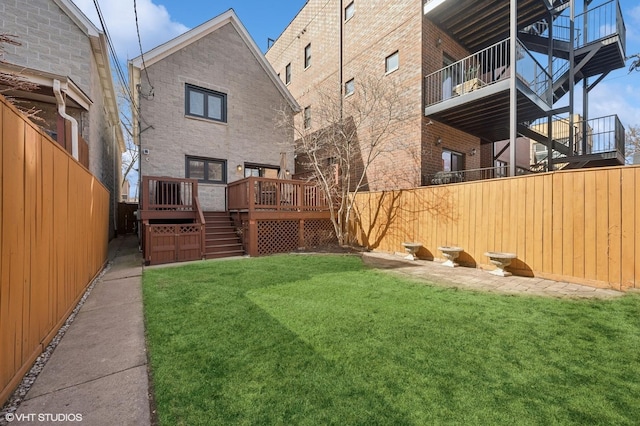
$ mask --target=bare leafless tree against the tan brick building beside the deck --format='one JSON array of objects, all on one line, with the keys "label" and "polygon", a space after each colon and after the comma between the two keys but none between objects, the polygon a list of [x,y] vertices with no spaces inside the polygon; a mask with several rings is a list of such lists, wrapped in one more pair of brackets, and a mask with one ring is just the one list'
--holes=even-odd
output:
[{"label": "bare leafless tree against the tan brick building beside the deck", "polygon": [[[340,245],[352,243],[349,224],[358,192],[379,186],[381,179],[393,186],[388,180],[402,179],[398,166],[419,167],[394,164],[392,158],[415,145],[415,138],[412,143],[406,135],[408,121],[419,113],[401,102],[402,88],[393,80],[360,75],[349,96],[319,89],[313,111],[299,114],[293,123],[287,120],[286,110],[279,111],[279,125],[293,131],[298,166],[327,198]],[[390,161],[380,161],[383,157]],[[389,164],[395,170],[389,170]]]}]

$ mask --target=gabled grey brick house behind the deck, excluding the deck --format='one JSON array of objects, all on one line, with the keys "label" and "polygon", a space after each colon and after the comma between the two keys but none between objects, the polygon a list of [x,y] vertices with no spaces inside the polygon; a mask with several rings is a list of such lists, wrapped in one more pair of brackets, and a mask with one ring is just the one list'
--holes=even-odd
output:
[{"label": "gabled grey brick house behind the deck, excluding the deck", "polygon": [[[233,10],[129,62],[141,176],[198,180],[204,211],[226,185],[293,170],[293,136],[275,111],[299,107]],[[284,155],[283,155],[284,153]]]}]

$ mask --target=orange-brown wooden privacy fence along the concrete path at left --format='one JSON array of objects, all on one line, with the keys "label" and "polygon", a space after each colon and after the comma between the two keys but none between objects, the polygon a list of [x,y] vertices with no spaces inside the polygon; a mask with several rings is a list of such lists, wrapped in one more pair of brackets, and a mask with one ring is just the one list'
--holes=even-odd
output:
[{"label": "orange-brown wooden privacy fence along the concrete path at left", "polygon": [[109,193],[0,96],[0,405],[107,259]]}]

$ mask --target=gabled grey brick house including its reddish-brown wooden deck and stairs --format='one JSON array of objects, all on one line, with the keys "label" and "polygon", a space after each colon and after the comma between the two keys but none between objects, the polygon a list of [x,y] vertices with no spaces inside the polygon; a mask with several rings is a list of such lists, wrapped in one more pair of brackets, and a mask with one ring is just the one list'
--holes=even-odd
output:
[{"label": "gabled grey brick house including its reddish-brown wooden deck and stairs", "polygon": [[233,10],[129,61],[129,76],[145,261],[291,250],[330,226],[315,188],[286,179],[293,133],[277,120],[300,107]]}]

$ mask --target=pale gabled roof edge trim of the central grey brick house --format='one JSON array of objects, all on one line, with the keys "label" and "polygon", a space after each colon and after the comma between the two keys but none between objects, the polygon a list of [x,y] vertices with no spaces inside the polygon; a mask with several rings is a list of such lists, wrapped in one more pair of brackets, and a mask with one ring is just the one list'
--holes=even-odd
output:
[{"label": "pale gabled roof edge trim of the central grey brick house", "polygon": [[238,34],[240,34],[240,37],[242,38],[244,43],[247,45],[247,47],[249,48],[253,56],[256,58],[260,66],[267,73],[267,75],[269,76],[273,84],[275,84],[277,89],[280,91],[280,93],[282,94],[282,97],[284,97],[287,100],[287,102],[291,106],[291,109],[293,109],[295,112],[299,112],[300,106],[298,105],[294,97],[291,95],[291,93],[289,93],[289,90],[284,85],[282,80],[280,80],[280,78],[276,74],[271,64],[264,57],[264,55],[262,54],[262,52],[260,51],[256,43],[253,41],[253,38],[251,38],[251,36],[247,32],[247,29],[244,27],[244,25],[242,25],[242,22],[240,22],[240,19],[238,19],[238,16],[236,15],[233,9],[229,9],[228,11],[222,13],[221,15],[218,15],[215,18],[205,22],[204,24],[201,24],[187,31],[186,33],[181,34],[178,37],[172,40],[169,40],[168,42],[161,44],[160,46],[157,46],[149,50],[148,52],[144,53],[144,64],[142,61],[142,55],[130,60],[129,62],[135,68],[138,68],[141,70],[144,68],[144,66],[148,67],[153,65],[154,63],[183,49],[184,47],[190,45],[191,43],[194,43],[197,40],[200,40],[201,38],[213,33],[214,31],[218,30],[219,28],[227,24],[233,25],[236,31],[238,31]]}]

